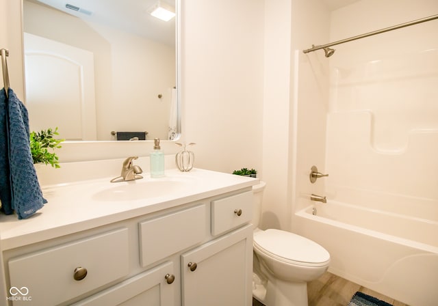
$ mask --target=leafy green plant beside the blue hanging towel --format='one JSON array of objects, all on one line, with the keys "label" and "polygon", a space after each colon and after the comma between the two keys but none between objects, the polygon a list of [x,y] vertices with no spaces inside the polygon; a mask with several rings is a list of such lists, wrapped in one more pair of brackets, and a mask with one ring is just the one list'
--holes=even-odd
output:
[{"label": "leafy green plant beside the blue hanging towel", "polygon": [[65,139],[56,139],[55,135],[59,135],[57,128],[55,130],[47,128],[47,130],[30,133],[30,152],[34,164],[44,163],[54,168],[60,168],[58,157],[53,151],[61,148],[60,143]]}]

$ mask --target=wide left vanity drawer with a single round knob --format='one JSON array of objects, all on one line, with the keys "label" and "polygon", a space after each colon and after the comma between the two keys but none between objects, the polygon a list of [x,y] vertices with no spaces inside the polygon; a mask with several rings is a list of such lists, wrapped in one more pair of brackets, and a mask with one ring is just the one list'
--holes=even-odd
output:
[{"label": "wide left vanity drawer with a single round knob", "polygon": [[[129,273],[128,230],[122,228],[12,258],[8,266],[10,288],[21,292],[13,292],[14,306],[30,305],[29,301],[32,305],[57,305]],[[85,277],[75,280],[83,269],[87,271]]]}]

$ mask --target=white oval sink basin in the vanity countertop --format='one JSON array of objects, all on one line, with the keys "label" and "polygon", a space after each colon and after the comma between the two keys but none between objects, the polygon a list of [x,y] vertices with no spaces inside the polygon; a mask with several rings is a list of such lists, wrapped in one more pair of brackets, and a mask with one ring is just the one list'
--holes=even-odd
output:
[{"label": "white oval sink basin in the vanity countertop", "polygon": [[111,183],[107,189],[94,193],[97,201],[134,201],[151,197],[179,194],[193,187],[193,178],[143,178],[129,182]]}]

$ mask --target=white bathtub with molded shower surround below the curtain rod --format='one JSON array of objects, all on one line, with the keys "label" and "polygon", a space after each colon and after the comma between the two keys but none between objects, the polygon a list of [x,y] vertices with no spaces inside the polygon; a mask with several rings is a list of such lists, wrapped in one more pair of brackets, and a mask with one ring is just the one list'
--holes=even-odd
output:
[{"label": "white bathtub with molded shower surround below the curtain rod", "polygon": [[[331,36],[344,36],[357,8],[380,8],[363,3],[332,15]],[[429,11],[436,14],[437,3]],[[336,46],[330,59],[305,55],[313,66],[329,61],[318,167],[330,176],[309,187],[327,203],[298,195],[292,219],[298,234],[329,251],[329,271],[421,306],[438,301],[437,31],[432,20]]]}]

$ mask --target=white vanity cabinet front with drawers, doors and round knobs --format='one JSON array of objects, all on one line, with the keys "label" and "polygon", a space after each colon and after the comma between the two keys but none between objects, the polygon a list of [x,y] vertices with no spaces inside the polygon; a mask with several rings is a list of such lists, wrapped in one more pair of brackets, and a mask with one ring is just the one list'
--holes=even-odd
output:
[{"label": "white vanity cabinet front with drawers, doors and round knobs", "polygon": [[8,305],[250,306],[252,206],[246,186],[3,251]]}]

